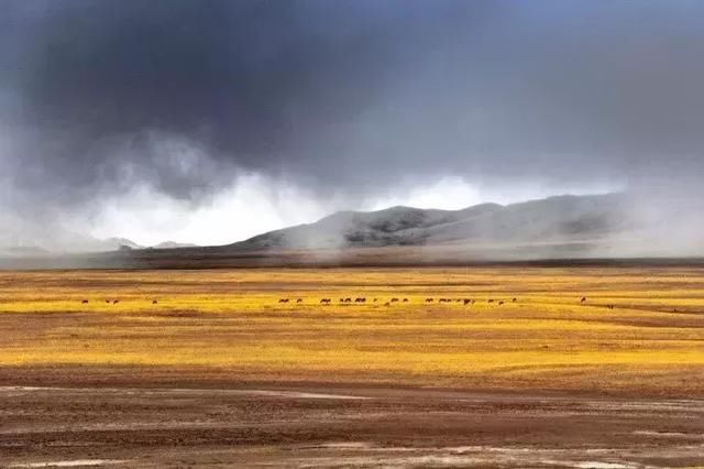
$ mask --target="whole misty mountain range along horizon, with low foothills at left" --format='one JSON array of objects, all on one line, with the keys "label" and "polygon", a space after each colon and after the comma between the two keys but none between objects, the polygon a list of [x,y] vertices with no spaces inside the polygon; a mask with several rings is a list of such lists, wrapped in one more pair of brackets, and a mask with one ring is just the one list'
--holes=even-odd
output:
[{"label": "whole misty mountain range along horizon, with low foothills at left", "polygon": [[[64,259],[69,251],[44,247],[0,248],[0,258],[53,257],[51,265],[72,266],[191,268],[702,257],[704,230],[695,222],[698,201],[652,200],[607,194],[481,204],[461,210],[397,206],[339,211],[226,246],[166,242],[144,248],[122,238],[77,237],[72,239],[69,262]],[[25,264],[36,265],[3,265]]]}]

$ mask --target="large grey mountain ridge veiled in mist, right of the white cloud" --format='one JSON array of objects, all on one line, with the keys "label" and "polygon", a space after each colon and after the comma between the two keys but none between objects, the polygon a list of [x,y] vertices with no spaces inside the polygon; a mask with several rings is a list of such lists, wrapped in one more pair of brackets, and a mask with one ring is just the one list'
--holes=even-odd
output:
[{"label": "large grey mountain ridge veiled in mist, right of the white cloud", "polygon": [[455,243],[570,242],[637,229],[622,194],[554,196],[461,210],[392,207],[340,211],[314,223],[255,236],[233,250],[345,249]]}]

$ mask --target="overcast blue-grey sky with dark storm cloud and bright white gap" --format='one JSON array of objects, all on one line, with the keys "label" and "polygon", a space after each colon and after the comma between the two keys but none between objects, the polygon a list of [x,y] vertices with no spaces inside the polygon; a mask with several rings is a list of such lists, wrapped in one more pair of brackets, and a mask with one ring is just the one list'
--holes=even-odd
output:
[{"label": "overcast blue-grey sky with dark storm cloud and bright white gap", "polygon": [[698,194],[703,57],[696,0],[3,0],[0,228]]}]

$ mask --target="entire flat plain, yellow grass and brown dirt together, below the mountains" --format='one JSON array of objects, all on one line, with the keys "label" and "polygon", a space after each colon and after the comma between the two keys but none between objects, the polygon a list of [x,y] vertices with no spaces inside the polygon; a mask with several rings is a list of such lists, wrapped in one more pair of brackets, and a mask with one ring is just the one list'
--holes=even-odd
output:
[{"label": "entire flat plain, yellow grass and brown dirt together, below the mountains", "polygon": [[702,343],[692,266],[4,272],[0,467],[704,467]]}]

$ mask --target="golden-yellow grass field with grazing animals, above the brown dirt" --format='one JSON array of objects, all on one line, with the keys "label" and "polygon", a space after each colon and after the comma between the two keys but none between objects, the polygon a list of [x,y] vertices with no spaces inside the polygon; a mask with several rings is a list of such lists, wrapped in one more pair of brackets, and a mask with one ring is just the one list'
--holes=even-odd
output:
[{"label": "golden-yellow grass field with grazing animals, above the brown dirt", "polygon": [[0,380],[135,377],[702,397],[704,270],[0,272]]}]

